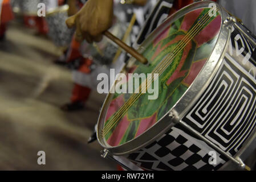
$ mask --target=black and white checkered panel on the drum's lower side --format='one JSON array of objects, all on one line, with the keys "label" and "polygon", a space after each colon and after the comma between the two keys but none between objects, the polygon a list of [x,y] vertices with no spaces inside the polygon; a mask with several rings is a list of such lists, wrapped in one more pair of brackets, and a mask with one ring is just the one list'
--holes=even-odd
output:
[{"label": "black and white checkered panel on the drum's lower side", "polygon": [[217,162],[210,164],[210,151],[214,150],[205,142],[176,126],[128,159],[147,170],[217,170],[227,159],[216,152]]}]

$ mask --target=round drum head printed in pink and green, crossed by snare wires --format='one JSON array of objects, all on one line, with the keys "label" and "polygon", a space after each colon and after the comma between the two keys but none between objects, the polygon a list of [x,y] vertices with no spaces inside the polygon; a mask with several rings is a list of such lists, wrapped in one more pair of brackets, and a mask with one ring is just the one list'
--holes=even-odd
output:
[{"label": "round drum head printed in pink and green, crossed by snare wires", "polygon": [[[212,10],[209,2],[187,6],[144,41],[140,52],[149,64],[130,59],[122,72],[125,75],[119,75],[104,102],[97,130],[103,147],[116,148],[136,139],[133,147],[137,147],[144,144],[139,139],[142,135],[148,141],[155,137],[148,131],[181,100],[216,46],[222,15]],[[140,78],[137,85],[136,74]]]}]

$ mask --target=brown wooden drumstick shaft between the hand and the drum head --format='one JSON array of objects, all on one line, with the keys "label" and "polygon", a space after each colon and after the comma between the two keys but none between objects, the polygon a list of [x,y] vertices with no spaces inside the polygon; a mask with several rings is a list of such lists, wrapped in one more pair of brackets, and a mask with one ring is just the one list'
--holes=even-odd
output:
[{"label": "brown wooden drumstick shaft between the hand and the drum head", "polygon": [[112,40],[113,42],[115,42],[118,46],[120,46],[121,48],[124,49],[124,51],[128,52],[130,55],[132,55],[133,57],[135,57],[135,59],[137,59],[138,61],[140,61],[140,63],[143,64],[147,64],[148,60],[141,55],[139,52],[137,52],[135,49],[133,49],[132,47],[128,46],[127,44],[125,44],[123,41],[121,41],[119,38],[117,38],[115,35],[111,34],[111,32],[109,31],[105,31],[103,33],[105,36],[107,36],[107,38],[109,38],[110,40]]}]

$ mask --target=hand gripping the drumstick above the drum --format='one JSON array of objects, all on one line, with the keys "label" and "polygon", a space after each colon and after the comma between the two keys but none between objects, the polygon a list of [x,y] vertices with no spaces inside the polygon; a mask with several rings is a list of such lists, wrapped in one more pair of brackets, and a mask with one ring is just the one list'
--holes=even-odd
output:
[{"label": "hand gripping the drumstick above the drum", "polygon": [[66,20],[69,28],[76,27],[75,39],[99,42],[104,31],[112,26],[113,0],[88,0],[78,13]]}]

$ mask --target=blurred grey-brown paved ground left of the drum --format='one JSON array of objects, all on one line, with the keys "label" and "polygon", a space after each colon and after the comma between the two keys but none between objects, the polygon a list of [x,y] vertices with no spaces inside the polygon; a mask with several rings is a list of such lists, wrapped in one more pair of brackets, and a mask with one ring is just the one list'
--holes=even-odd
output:
[{"label": "blurred grey-brown paved ground left of the drum", "polygon": [[[86,109],[64,113],[71,73],[52,64],[60,51],[46,38],[11,23],[0,43],[0,169],[112,170],[97,142],[87,144],[104,96],[91,94]],[[46,165],[37,152],[46,152]]]}]

